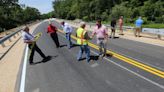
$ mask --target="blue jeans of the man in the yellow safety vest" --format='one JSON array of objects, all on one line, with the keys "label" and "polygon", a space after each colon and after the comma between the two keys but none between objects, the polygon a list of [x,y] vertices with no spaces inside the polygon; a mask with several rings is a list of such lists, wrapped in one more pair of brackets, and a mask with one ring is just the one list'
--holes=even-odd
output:
[{"label": "blue jeans of the man in the yellow safety vest", "polygon": [[83,55],[84,51],[85,51],[85,54],[86,54],[87,62],[89,62],[89,60],[90,60],[90,49],[89,49],[88,45],[81,45],[80,46],[80,50],[79,50],[79,54],[77,56],[77,60],[82,59],[82,55]]}]

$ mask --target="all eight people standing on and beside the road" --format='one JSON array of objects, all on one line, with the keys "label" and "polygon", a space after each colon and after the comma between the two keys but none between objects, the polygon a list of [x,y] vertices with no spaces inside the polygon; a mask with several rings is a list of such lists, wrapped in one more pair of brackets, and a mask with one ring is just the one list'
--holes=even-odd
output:
[{"label": "all eight people standing on and beside the road", "polygon": [[[140,31],[141,31],[141,25],[143,23],[143,20],[141,17],[139,17],[138,20],[136,20],[136,31],[135,31],[135,36],[140,36]],[[111,37],[115,37],[115,28],[116,28],[116,20],[113,19],[111,21]],[[73,44],[71,41],[71,34],[73,31],[73,28],[65,22],[61,22],[61,26],[63,28],[63,31],[65,33],[65,37],[67,40],[67,47],[68,49],[71,49]],[[123,35],[123,16],[120,17],[119,19],[119,29],[120,33],[119,35]],[[82,59],[82,54],[85,52],[86,54],[86,61],[90,61],[90,48],[88,46],[89,40],[92,40],[92,38],[96,35],[96,40],[97,44],[99,46],[99,56],[104,57],[106,56],[106,45],[108,41],[108,30],[106,26],[102,25],[101,20],[98,19],[96,21],[96,26],[92,31],[92,34],[89,35],[87,30],[85,29],[86,23],[81,22],[80,27],[76,30],[76,37],[77,37],[77,45],[79,45],[79,52],[77,54],[77,60],[80,61]],[[58,40],[58,35],[57,35],[58,28],[54,26],[51,22],[49,22],[49,25],[47,27],[47,33],[50,34],[51,38],[53,39],[54,43],[56,44],[56,48],[60,48],[60,43]],[[43,62],[48,60],[50,56],[44,55],[44,53],[39,49],[39,47],[36,44],[35,37],[29,33],[29,28],[26,26],[23,30],[22,33],[22,38],[24,40],[24,43],[27,43],[29,48],[31,49],[31,54],[29,58],[30,64],[33,64],[33,56],[34,52],[37,51],[42,57],[43,57]]]}]

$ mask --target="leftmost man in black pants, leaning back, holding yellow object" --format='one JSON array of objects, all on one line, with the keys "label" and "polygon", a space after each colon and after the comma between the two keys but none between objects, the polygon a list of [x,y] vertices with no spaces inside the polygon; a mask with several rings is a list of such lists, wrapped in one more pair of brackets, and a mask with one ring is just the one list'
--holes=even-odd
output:
[{"label": "leftmost man in black pants, leaning back, holding yellow object", "polygon": [[48,59],[50,59],[50,56],[45,56],[45,54],[37,46],[35,37],[29,33],[29,27],[25,27],[23,29],[22,38],[23,38],[24,43],[27,43],[28,47],[31,49],[31,54],[29,58],[30,64],[34,64],[33,57],[34,57],[35,51],[37,51],[40,54],[40,56],[43,58],[42,62],[46,62]]}]

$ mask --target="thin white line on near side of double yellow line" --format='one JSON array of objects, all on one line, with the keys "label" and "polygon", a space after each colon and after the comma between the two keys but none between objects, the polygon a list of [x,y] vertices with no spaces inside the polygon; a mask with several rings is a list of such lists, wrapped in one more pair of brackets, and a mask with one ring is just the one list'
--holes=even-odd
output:
[{"label": "thin white line on near side of double yellow line", "polygon": [[[94,53],[94,54],[98,54],[98,53],[96,53],[95,51],[92,51],[92,50],[91,50],[91,52]],[[110,59],[108,59],[108,58],[106,58],[106,57],[104,57],[104,59],[106,59],[107,61],[113,63],[114,65],[119,66],[119,67],[121,67],[121,68],[123,68],[123,69],[125,69],[125,70],[127,70],[129,72],[131,72],[132,74],[134,74],[134,75],[136,75],[136,76],[138,76],[138,77],[140,77],[140,78],[142,78],[142,79],[144,79],[144,80],[146,80],[146,81],[148,81],[148,82],[150,82],[150,83],[152,83],[152,84],[154,84],[154,85],[164,89],[163,85],[161,85],[159,83],[156,83],[156,82],[154,82],[154,81],[152,81],[152,80],[150,80],[150,79],[148,79],[148,78],[146,78],[146,77],[144,77],[144,76],[142,76],[142,75],[140,75],[140,74],[138,74],[138,73],[136,73],[136,72],[134,72],[134,71],[132,71],[132,70],[130,70],[130,69],[128,69],[128,68],[126,68],[126,67],[124,67],[124,66],[122,66],[122,65],[120,65],[120,64],[118,64],[118,63],[116,63],[116,62],[114,62],[114,61],[112,61]]]}]

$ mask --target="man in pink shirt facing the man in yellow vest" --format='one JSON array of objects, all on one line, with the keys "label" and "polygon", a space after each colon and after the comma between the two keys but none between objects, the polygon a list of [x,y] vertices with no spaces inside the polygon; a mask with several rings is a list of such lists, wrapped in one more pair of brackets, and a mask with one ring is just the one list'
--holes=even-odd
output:
[{"label": "man in pink shirt facing the man in yellow vest", "polygon": [[[97,44],[99,45],[99,55],[104,57],[106,55],[106,43],[108,39],[108,30],[107,28],[101,24],[101,20],[97,20],[96,27],[92,32],[92,38],[96,35],[97,37]],[[104,50],[103,50],[104,49]]]}]

